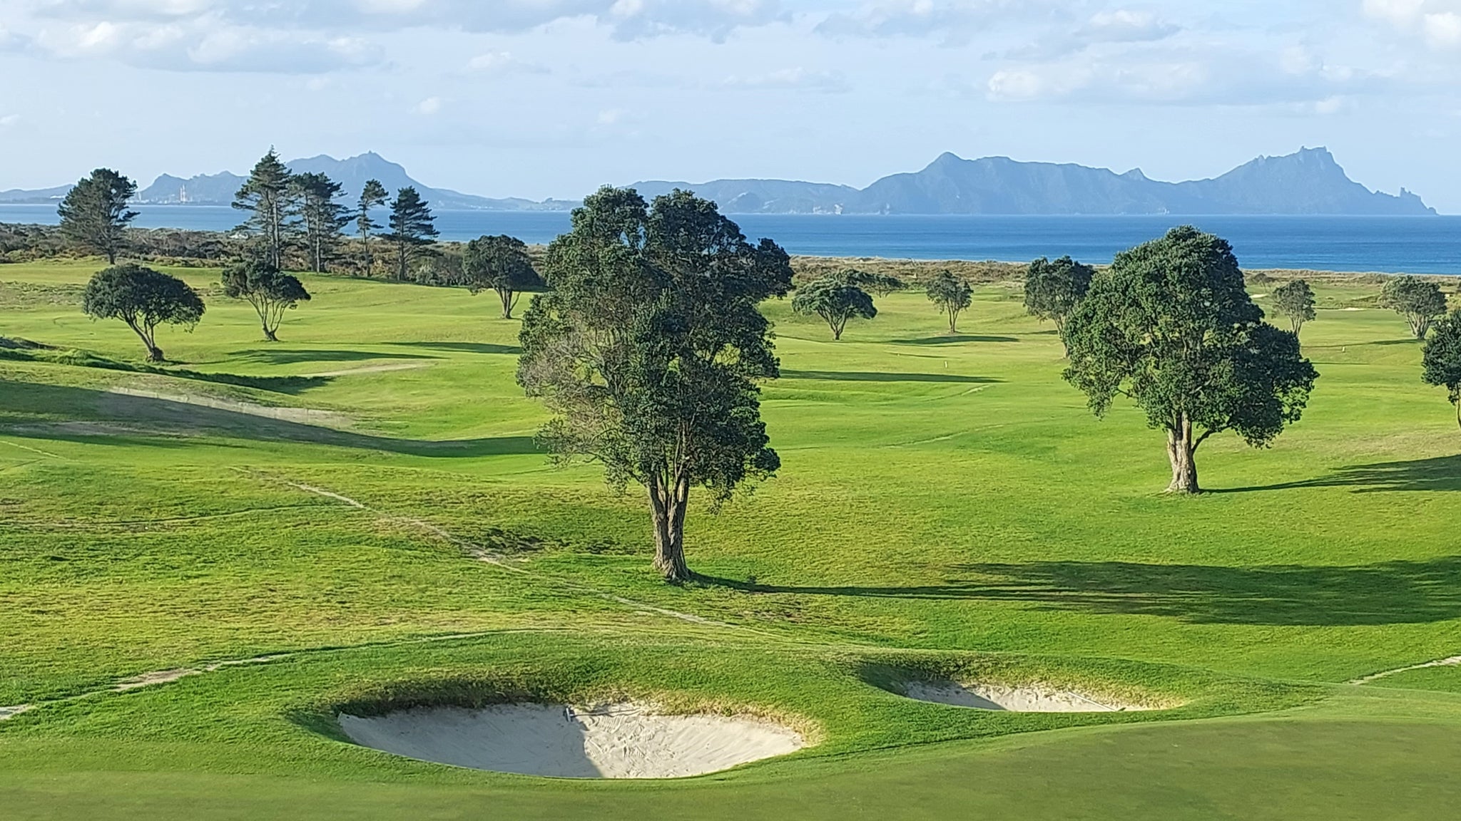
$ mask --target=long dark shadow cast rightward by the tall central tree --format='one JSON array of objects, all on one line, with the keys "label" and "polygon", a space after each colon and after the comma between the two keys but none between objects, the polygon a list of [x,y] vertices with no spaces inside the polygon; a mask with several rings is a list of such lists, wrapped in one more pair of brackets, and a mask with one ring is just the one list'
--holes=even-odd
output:
[{"label": "long dark shadow cast rightward by the tall central tree", "polygon": [[754,593],[1008,602],[1040,611],[1163,616],[1191,624],[1353,627],[1461,616],[1461,557],[1347,567],[1042,561],[953,570],[958,578],[912,587],[704,581]]}]

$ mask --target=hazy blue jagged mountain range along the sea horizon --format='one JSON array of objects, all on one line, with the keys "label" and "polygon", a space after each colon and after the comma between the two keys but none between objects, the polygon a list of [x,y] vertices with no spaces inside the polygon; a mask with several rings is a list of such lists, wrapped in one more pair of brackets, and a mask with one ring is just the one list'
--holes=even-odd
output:
[{"label": "hazy blue jagged mountain range along the sea horizon", "polygon": [[[437,209],[565,210],[571,200],[489,199],[412,180],[400,165],[371,152],[348,159],[313,156],[289,162],[345,186],[354,200],[367,180],[387,190],[415,186]],[[150,205],[228,205],[244,178],[228,171],[183,180],[164,174],[137,194]],[[1084,165],[1015,162],[1005,156],[963,159],[945,153],[912,174],[884,177],[866,188],[787,180],[644,181],[633,186],[653,197],[674,188],[694,190],[726,213],[985,213],[985,215],[1433,215],[1419,196],[1372,191],[1349,178],[1328,149],[1259,156],[1213,180],[1161,183],[1140,169],[1116,174]],[[57,202],[69,186],[38,191],[0,191],[0,203]]]}]

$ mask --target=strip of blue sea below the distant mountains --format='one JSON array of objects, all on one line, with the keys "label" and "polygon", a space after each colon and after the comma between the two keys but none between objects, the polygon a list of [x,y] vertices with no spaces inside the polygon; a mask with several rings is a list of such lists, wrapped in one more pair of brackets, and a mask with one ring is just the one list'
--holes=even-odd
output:
[{"label": "strip of blue sea below the distant mountains", "polygon": [[[226,231],[240,212],[212,206],[140,206],[140,228]],[[1122,248],[1197,225],[1226,237],[1245,267],[1461,275],[1461,216],[834,216],[735,215],[752,240],[793,254],[922,260],[1004,260],[1071,254],[1109,263]],[[54,224],[45,205],[0,205],[0,222]],[[567,212],[441,210],[443,240],[510,234],[548,243]]]}]

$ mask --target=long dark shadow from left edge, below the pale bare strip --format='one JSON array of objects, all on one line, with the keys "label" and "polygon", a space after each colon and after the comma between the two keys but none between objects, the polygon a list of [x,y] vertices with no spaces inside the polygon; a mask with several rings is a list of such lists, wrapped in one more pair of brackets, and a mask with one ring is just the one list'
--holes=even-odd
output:
[{"label": "long dark shadow from left edge, below the pale bare strip", "polygon": [[[243,403],[237,408],[80,387],[0,383],[0,418],[12,422],[6,432],[29,438],[96,441],[121,435],[129,443],[171,444],[178,435],[221,435],[449,459],[539,453],[533,437],[408,440],[310,421],[311,416],[321,422],[342,418],[332,412]],[[54,416],[61,409],[72,418],[57,422]]]}]

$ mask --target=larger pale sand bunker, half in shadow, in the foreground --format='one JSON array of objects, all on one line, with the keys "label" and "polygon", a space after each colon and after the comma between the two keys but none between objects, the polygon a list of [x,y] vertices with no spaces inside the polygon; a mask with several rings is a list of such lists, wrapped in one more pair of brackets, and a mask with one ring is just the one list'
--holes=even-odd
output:
[{"label": "larger pale sand bunker, half in shadow, in the foreground", "polygon": [[428,707],[339,722],[355,744],[396,755],[561,779],[701,776],[805,745],[760,719],[666,716],[643,704]]}]

